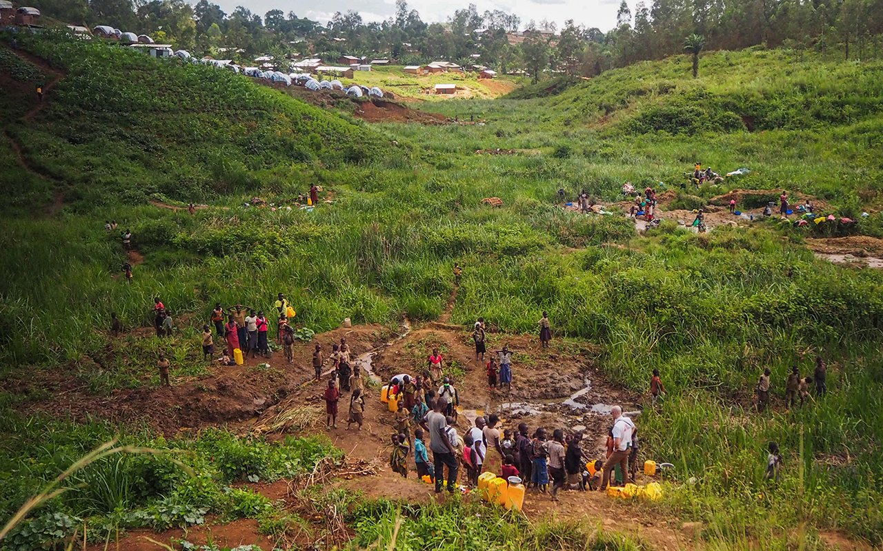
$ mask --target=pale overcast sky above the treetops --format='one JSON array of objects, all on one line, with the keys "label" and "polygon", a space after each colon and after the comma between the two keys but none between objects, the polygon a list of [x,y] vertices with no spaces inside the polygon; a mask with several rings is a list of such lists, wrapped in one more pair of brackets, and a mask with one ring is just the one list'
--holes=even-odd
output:
[{"label": "pale overcast sky above the treetops", "polygon": [[[232,12],[236,6],[243,5],[261,17],[270,10],[279,9],[286,14],[294,11],[298,17],[319,20],[325,23],[335,11],[355,10],[366,21],[388,19],[396,10],[396,0],[214,0],[223,11]],[[427,23],[443,22],[453,15],[454,11],[465,8],[470,0],[408,0],[412,10],[419,11],[420,19]],[[608,31],[616,23],[616,10],[619,0],[472,0],[479,13],[486,10],[502,10],[515,13],[521,18],[522,27],[534,19],[539,23],[543,19],[555,21],[561,28],[565,19],[573,19],[577,25],[597,26]],[[634,2],[629,2],[634,11]],[[649,5],[649,2],[647,3]]]}]

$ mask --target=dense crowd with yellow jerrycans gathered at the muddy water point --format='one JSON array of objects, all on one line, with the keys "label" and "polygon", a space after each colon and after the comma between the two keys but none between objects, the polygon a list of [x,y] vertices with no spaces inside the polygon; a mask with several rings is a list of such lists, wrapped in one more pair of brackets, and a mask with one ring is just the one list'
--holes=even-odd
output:
[{"label": "dense crowd with yellow jerrycans gathered at the muddy water point", "polygon": [[[607,458],[600,460],[582,449],[581,432],[566,435],[563,428],[555,428],[549,437],[546,428],[531,432],[524,422],[502,428],[496,413],[476,417],[461,435],[450,405],[441,393],[426,391],[415,398],[410,412],[405,403],[398,406],[390,436],[389,465],[394,472],[407,477],[412,464],[419,477],[434,483],[436,493],[446,486],[449,492],[461,486],[476,488],[480,473],[494,473],[509,483],[523,481],[553,501],[562,489],[604,490],[634,480],[637,427],[619,406],[611,409]],[[411,426],[416,427],[413,436]]]}]

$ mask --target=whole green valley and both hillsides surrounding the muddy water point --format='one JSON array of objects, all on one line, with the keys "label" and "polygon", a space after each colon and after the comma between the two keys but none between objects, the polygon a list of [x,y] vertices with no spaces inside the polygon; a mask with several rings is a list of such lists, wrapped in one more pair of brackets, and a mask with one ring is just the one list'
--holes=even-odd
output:
[{"label": "whole green valley and both hillsides surrounding the muddy water point", "polygon": [[[317,333],[347,317],[357,327],[377,324],[362,328],[372,331],[365,349],[407,318],[420,339],[406,345],[413,359],[389,361],[409,370],[426,364],[431,341],[420,329],[448,331],[444,353],[453,357],[455,345],[472,346],[469,328],[479,316],[493,327],[492,346],[520,340],[539,350],[525,334],[535,334],[546,310],[554,346],[516,351],[518,383],[545,396],[558,381],[534,376],[537,361],[585,360],[580,377],[598,374],[615,385],[611,400],[635,397],[644,406],[642,457],[675,465],[665,499],[615,510],[629,523],[649,518],[680,541],[681,523],[699,522],[695,545],[717,549],[821,551],[823,535],[832,533],[883,543],[883,273],[831,264],[805,246],[809,238],[883,235],[878,62],[719,52],[703,56],[701,78],[693,80],[678,56],[576,85],[540,82],[522,93],[528,99],[421,106],[463,124],[369,126],[226,71],[159,62],[98,41],[20,46],[21,56],[0,45],[0,108],[8,121],[0,182],[16,190],[0,219],[0,316],[14,328],[0,333],[0,376],[10,382],[0,391],[0,518],[117,433],[125,443],[183,450],[177,456],[199,474],[141,458],[99,463],[74,477],[70,494],[35,513],[39,522],[16,532],[23,543],[11,548],[64,547],[83,519],[102,544],[117,530],[197,519],[222,525],[247,517],[262,534],[283,526],[302,533],[332,506],[345,511],[335,518],[358,546],[386,547],[397,510],[387,501],[336,488],[299,499],[316,509],[290,515],[288,504],[255,496],[254,480],[304,475],[318,458],[337,457],[331,441],[343,433],[304,429],[297,436],[319,440],[280,443],[238,438],[215,427],[218,421],[178,427],[179,437],[165,438],[137,424],[94,421],[105,406],[129,399],[162,394],[172,406],[155,414],[174,417],[193,397],[232,392],[215,385],[218,370],[202,360],[201,326],[215,302],[273,312],[279,292],[291,297],[296,323]],[[35,84],[56,78],[40,108]],[[474,124],[466,123],[471,116]],[[495,148],[512,154],[476,153]],[[683,189],[683,173],[697,161],[721,173],[752,172]],[[796,227],[758,216],[697,235],[668,219],[638,235],[617,205],[626,181],[669,196],[666,219],[678,205],[689,212],[730,190],[777,197],[787,189],[857,223]],[[312,183],[323,188],[320,204],[301,209],[295,198]],[[584,188],[613,214],[560,207],[559,189],[572,200]],[[245,206],[253,197],[266,205]],[[485,197],[503,205],[482,205]],[[200,204],[194,214],[182,208],[190,202]],[[106,220],[119,222],[117,232],[105,231]],[[135,249],[128,254],[119,236],[125,228]],[[136,263],[131,284],[120,273],[126,261]],[[455,262],[464,266],[457,287]],[[174,336],[153,336],[155,296],[176,319]],[[122,338],[107,331],[111,311],[125,324]],[[326,333],[321,343],[330,340]],[[172,390],[158,388],[160,349],[174,358]],[[275,376],[297,369],[312,376],[308,354],[305,365],[291,366],[277,353],[272,366],[246,366],[244,378],[269,377],[275,391]],[[828,363],[829,393],[808,406],[784,406],[789,370],[811,373],[815,354]],[[654,368],[668,390],[659,409],[645,399]],[[758,414],[751,397],[764,368],[773,372],[774,411]],[[481,379],[459,386],[460,395],[467,407],[486,409],[472,398],[485,391],[483,366],[464,357],[449,369],[458,384]],[[313,405],[320,383],[308,384],[283,391],[303,391],[298,404]],[[52,407],[62,394],[87,404],[88,422]],[[246,407],[253,398],[260,397],[245,398]],[[42,413],[31,416],[31,408]],[[360,433],[366,445],[380,435],[377,457],[389,454],[382,447],[389,422],[378,419]],[[771,440],[786,458],[779,483],[764,474]],[[396,484],[389,492],[400,497]],[[586,503],[557,511],[593,515],[607,504]],[[625,528],[628,537],[608,537],[576,520],[528,522],[460,500],[402,510],[401,537],[411,540],[396,548],[656,548]],[[64,524],[64,538],[53,522]],[[451,525],[466,526],[466,539],[450,536]],[[330,533],[318,522],[310,530],[311,541]]]}]

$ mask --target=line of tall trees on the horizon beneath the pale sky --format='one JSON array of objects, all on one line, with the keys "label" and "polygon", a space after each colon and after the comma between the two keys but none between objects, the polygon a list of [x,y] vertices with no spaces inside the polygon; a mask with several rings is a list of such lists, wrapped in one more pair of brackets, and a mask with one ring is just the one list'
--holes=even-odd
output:
[{"label": "line of tall trees on the horizon beneath the pale sky", "polygon": [[[883,0],[651,0],[634,12],[623,0],[608,32],[577,25],[561,29],[547,20],[522,26],[505,11],[479,13],[474,4],[446,21],[427,23],[406,0],[395,15],[366,22],[357,11],[337,12],[327,24],[293,11],[261,17],[243,6],[232,13],[199,0],[33,0],[44,15],[87,26],[109,25],[150,34],[196,55],[240,63],[270,55],[389,58],[401,64],[437,59],[480,63],[498,71],[593,76],[613,67],[698,49],[738,49],[766,44],[796,49],[839,48],[845,59],[879,55]],[[701,45],[697,49],[698,40]],[[478,55],[477,57],[475,55]]]}]

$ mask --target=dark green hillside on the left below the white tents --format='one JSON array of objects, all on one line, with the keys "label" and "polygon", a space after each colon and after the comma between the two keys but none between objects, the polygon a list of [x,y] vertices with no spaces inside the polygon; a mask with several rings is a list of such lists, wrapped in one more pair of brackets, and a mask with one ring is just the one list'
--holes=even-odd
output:
[{"label": "dark green hillside on the left below the white tents", "polygon": [[23,47],[64,78],[48,109],[9,131],[35,169],[65,183],[69,201],[139,204],[160,193],[199,202],[257,190],[260,173],[282,183],[385,149],[376,133],[230,71],[97,42]]}]

